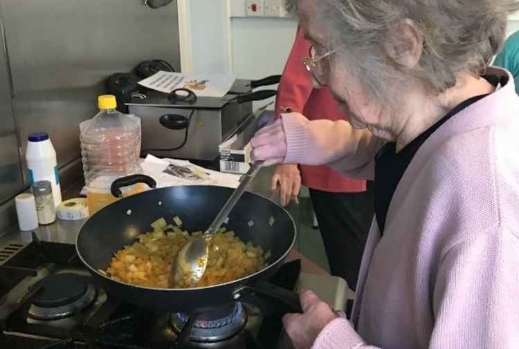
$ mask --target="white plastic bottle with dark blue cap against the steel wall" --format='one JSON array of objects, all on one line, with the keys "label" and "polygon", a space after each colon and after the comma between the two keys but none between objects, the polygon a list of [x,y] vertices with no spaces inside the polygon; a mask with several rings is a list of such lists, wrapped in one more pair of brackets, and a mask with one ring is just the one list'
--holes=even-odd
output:
[{"label": "white plastic bottle with dark blue cap against the steel wall", "polygon": [[25,153],[29,185],[39,180],[51,182],[54,206],[62,202],[60,173],[57,171],[56,151],[48,138],[48,133],[30,133]]}]

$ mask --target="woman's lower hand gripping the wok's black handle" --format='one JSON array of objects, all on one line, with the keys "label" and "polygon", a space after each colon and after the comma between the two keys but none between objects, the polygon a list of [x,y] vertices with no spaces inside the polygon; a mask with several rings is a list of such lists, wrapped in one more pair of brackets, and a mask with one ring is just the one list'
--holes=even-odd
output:
[{"label": "woman's lower hand gripping the wok's black handle", "polygon": [[300,301],[303,314],[286,314],[283,326],[294,349],[309,349],[322,329],[337,315],[311,291],[301,292]]}]

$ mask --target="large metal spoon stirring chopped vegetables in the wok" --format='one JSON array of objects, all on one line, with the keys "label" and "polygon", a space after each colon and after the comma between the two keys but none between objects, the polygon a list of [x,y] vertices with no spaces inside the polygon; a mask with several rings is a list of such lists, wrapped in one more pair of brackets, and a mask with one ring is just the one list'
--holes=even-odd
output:
[{"label": "large metal spoon stirring chopped vegetables in the wok", "polygon": [[230,214],[242,197],[249,182],[256,176],[263,165],[263,161],[257,161],[251,169],[240,178],[238,187],[228,198],[226,204],[221,209],[215,220],[212,221],[206,232],[197,240],[185,244],[172,263],[170,274],[170,287],[197,287],[203,273],[206,271],[209,260],[209,243],[212,236],[218,232],[224,220]]}]

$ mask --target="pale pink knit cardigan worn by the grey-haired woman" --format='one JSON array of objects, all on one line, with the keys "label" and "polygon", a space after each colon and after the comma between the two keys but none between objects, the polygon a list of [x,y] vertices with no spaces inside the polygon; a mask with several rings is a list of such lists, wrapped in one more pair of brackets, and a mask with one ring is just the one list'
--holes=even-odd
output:
[{"label": "pale pink knit cardigan worn by the grey-haired woman", "polygon": [[[489,74],[509,82],[419,149],[383,236],[372,225],[352,322],[331,321],[313,348],[519,348],[519,97],[506,70]],[[340,122],[283,123],[285,162],[372,175],[382,140]]]}]

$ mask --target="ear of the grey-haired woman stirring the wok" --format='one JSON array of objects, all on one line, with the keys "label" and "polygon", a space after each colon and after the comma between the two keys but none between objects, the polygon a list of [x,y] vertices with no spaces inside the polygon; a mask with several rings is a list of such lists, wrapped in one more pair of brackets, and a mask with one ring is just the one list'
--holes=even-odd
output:
[{"label": "ear of the grey-haired woman stirring the wok", "polygon": [[414,21],[403,19],[394,23],[386,36],[385,53],[399,66],[415,68],[424,48],[424,35]]}]

